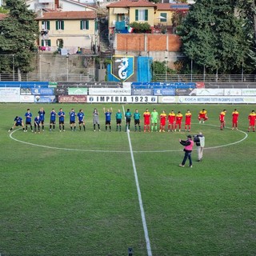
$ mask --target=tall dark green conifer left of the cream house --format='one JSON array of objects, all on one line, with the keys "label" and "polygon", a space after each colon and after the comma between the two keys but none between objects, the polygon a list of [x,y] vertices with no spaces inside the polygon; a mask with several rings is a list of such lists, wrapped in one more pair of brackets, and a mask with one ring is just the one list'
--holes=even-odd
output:
[{"label": "tall dark green conifer left of the cream house", "polygon": [[[11,73],[13,65],[21,73],[32,70],[30,63],[38,38],[35,14],[24,0],[6,0],[7,17],[0,22],[0,72]],[[9,56],[14,56],[14,63]]]}]

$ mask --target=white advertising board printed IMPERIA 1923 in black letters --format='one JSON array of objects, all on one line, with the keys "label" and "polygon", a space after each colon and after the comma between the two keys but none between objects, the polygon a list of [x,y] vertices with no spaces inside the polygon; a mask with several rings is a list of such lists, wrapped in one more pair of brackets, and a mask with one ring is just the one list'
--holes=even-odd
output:
[{"label": "white advertising board printed IMPERIA 1923 in black letters", "polygon": [[98,96],[90,95],[87,98],[90,103],[158,103],[158,96]]}]

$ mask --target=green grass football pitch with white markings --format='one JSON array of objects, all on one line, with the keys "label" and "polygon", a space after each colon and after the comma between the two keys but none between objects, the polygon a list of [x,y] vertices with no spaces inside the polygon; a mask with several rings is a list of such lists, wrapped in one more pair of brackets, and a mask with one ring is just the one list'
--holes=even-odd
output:
[{"label": "green grass football pitch with white markings", "polygon": [[[255,255],[256,133],[247,132],[250,105],[0,104],[0,254],[3,256]],[[45,131],[14,128],[14,117],[43,107]],[[65,132],[49,130],[62,107]],[[103,107],[112,107],[112,131]],[[82,109],[86,131],[71,131],[71,108]],[[101,132],[92,113],[99,110]],[[205,135],[203,161],[181,168],[181,132],[116,131],[118,109],[192,113],[190,134]],[[198,123],[205,108],[209,120]],[[231,113],[238,109],[238,130]],[[226,128],[218,114],[226,109]],[[77,125],[78,127],[78,125]],[[158,125],[159,130],[159,125]],[[130,254],[130,255],[131,255]]]}]

